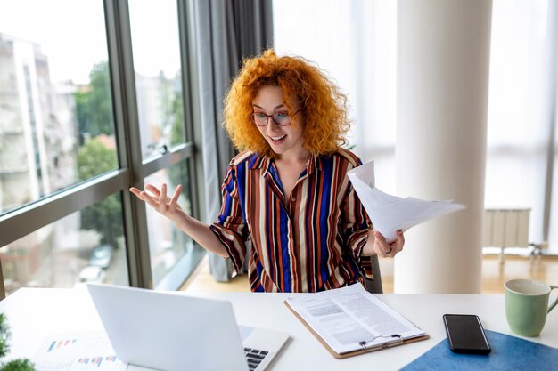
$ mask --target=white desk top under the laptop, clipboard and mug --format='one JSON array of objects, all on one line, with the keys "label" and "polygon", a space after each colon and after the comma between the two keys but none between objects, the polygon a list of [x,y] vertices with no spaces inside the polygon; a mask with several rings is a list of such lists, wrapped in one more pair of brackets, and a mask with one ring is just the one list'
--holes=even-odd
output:
[{"label": "white desk top under the laptop, clipboard and mug", "polygon": [[[295,294],[196,295],[230,300],[241,325],[277,328],[289,332],[291,341],[275,360],[271,367],[273,371],[369,371],[404,367],[446,337],[442,321],[444,313],[474,313],[479,315],[485,328],[512,334],[505,322],[504,295],[379,294],[378,297],[383,302],[422,328],[431,336],[430,339],[349,359],[334,359],[284,305],[283,300]],[[103,328],[85,288],[22,288],[0,302],[0,311],[6,314],[12,328],[10,358],[32,358],[48,335]],[[529,340],[558,347],[558,312],[551,312],[542,334]],[[306,362],[306,365],[301,365],[300,362]]]}]

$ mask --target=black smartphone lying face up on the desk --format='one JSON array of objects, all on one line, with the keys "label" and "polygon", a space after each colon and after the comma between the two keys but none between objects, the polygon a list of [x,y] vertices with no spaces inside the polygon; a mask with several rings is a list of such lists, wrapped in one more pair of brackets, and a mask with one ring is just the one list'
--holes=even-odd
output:
[{"label": "black smartphone lying face up on the desk", "polygon": [[455,353],[488,354],[490,344],[478,316],[444,314],[449,349]]}]

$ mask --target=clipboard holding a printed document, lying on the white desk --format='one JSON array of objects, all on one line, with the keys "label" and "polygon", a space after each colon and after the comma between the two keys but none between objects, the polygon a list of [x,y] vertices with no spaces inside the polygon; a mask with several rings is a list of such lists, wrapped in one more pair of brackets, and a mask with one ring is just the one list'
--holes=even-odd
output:
[{"label": "clipboard holding a printed document, lying on the white desk", "polygon": [[361,284],[285,302],[334,354],[372,351],[427,335]]}]

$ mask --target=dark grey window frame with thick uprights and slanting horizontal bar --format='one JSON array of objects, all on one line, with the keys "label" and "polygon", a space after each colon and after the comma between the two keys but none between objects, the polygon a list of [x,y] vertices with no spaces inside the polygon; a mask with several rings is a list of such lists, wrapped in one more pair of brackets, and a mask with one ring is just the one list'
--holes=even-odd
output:
[{"label": "dark grey window frame with thick uprights and slanting horizontal bar", "polygon": [[[80,182],[60,192],[48,195],[36,202],[21,206],[0,216],[0,246],[25,237],[45,225],[56,222],[64,216],[101,201],[120,191],[122,199],[123,229],[126,241],[129,285],[153,288],[151,259],[148,242],[148,228],[144,202],[135,198],[128,189],[144,189],[144,178],[171,165],[187,161],[190,169],[190,190],[193,216],[199,218],[198,202],[201,163],[196,160],[196,144],[193,127],[193,86],[190,76],[189,34],[187,27],[187,6],[177,3],[177,17],[182,68],[183,109],[185,143],[169,148],[165,153],[142,158],[138,108],[135,91],[135,69],[130,32],[128,4],[119,0],[104,0],[105,29],[108,46],[109,70],[111,75],[111,95],[114,115],[115,137],[119,168],[103,173],[87,181]],[[199,142],[198,142],[199,143]],[[203,254],[197,254],[199,261]],[[184,260],[185,258],[183,258]],[[196,262],[197,263],[197,262]],[[193,262],[187,262],[193,265]],[[176,289],[187,277],[185,262],[177,262],[158,289]],[[3,270],[0,262],[0,300],[5,297]]]}]

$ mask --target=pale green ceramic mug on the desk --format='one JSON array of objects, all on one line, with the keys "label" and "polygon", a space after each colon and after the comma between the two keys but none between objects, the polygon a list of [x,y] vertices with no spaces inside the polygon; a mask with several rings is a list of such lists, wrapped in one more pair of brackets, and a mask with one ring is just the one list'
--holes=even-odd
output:
[{"label": "pale green ceramic mug on the desk", "polygon": [[549,286],[532,279],[512,279],[505,283],[505,319],[517,335],[537,336],[545,327],[546,314],[558,304],[558,298],[548,306]]}]

